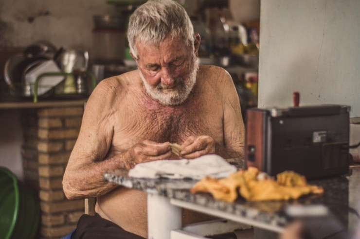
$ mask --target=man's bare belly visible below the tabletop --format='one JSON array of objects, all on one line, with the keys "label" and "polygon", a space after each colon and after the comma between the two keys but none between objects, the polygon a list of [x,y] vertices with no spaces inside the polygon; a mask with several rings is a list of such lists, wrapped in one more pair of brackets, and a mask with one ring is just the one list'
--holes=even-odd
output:
[{"label": "man's bare belly visible below the tabletop", "polygon": [[[147,238],[147,194],[144,191],[124,187],[115,188],[98,197],[96,212],[121,226],[124,230]],[[215,219],[190,210],[183,210],[182,224]]]}]

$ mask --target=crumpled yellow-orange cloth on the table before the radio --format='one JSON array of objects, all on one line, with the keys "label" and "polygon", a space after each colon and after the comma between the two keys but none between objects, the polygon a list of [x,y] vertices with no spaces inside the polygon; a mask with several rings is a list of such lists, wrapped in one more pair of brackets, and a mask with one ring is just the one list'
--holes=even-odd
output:
[{"label": "crumpled yellow-orange cloth on the table before the radio", "polygon": [[279,173],[277,180],[264,175],[256,168],[249,167],[222,179],[204,177],[190,191],[210,192],[215,199],[226,202],[234,202],[238,192],[248,201],[289,200],[324,192],[321,187],[307,184],[306,178],[294,171]]}]

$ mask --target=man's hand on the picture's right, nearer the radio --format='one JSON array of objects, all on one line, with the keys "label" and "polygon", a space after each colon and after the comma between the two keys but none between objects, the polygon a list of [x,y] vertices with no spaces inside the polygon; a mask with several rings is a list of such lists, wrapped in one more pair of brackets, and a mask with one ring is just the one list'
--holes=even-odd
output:
[{"label": "man's hand on the picture's right, nearer the radio", "polygon": [[190,136],[181,147],[180,156],[187,159],[198,158],[205,154],[215,154],[215,141],[206,135]]}]

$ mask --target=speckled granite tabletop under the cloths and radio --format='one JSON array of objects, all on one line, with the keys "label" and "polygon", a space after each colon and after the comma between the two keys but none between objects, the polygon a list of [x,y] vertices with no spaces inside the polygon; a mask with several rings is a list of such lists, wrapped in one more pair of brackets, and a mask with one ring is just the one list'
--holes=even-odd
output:
[{"label": "speckled granite tabletop under the cloths and radio", "polygon": [[[341,177],[309,181],[310,184],[322,186],[324,188],[323,195],[308,195],[291,201],[268,202],[247,202],[237,199],[234,203],[227,203],[213,199],[208,193],[192,194],[189,192],[189,188],[196,183],[193,180],[130,178],[127,171],[105,173],[104,177],[109,182],[115,182],[128,188],[158,193],[169,198],[225,211],[274,226],[283,227],[287,224],[284,209],[287,205],[295,204],[326,205],[342,223],[350,227],[356,226],[356,223],[349,223],[349,218],[353,217],[359,220],[356,214],[360,213],[360,167],[350,168],[349,174]],[[353,216],[349,216],[349,213]]]}]

